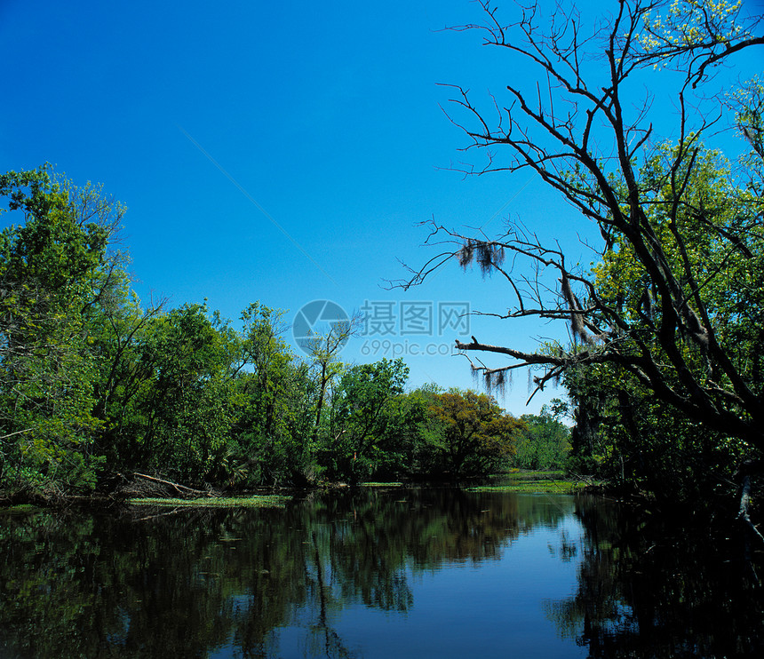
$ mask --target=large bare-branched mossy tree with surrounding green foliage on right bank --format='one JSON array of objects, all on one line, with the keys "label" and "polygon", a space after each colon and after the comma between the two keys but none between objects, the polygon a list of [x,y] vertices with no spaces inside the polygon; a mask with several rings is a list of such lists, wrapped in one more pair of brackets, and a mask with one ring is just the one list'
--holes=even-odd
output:
[{"label": "large bare-branched mossy tree with surrounding green foliage on right bank", "polygon": [[507,20],[480,4],[457,29],[523,76],[484,106],[451,88],[451,120],[487,156],[466,173],[535,172],[601,240],[586,267],[532,225],[491,238],[434,223],[446,251],[403,286],[450,260],[501,275],[506,305],[485,313],[567,322],[570,340],[457,341],[497,359],[473,358],[489,390],[518,368],[538,389],[563,378],[577,456],[666,502],[737,491],[745,515],[764,472],[764,86],[739,71],[760,57],[761,17],[726,0],[619,0],[592,22],[573,3]]}]

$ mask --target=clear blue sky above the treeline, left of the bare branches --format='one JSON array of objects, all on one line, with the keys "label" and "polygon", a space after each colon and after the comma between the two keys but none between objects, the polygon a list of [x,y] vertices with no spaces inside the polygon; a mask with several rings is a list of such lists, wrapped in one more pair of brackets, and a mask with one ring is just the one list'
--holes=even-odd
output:
[{"label": "clear blue sky above the treeline, left of the bare branches", "polygon": [[[467,0],[0,0],[0,168],[50,162],[124,202],[144,300],[208,298],[231,319],[259,300],[290,310],[289,321],[314,299],[348,313],[367,300],[501,312],[509,291],[456,267],[417,290],[383,288],[404,276],[398,259],[418,266],[434,255],[419,246],[416,224],[428,218],[498,231],[512,213],[578,251],[577,232],[593,228],[528,172],[448,171],[466,139],[442,114],[449,95],[436,83],[484,96],[522,74],[477,35],[440,31],[479,19]],[[453,343],[453,332],[401,330],[355,338],[343,358],[393,356],[381,344],[375,353],[374,339]],[[564,333],[485,319],[469,331],[521,349]],[[473,385],[463,357],[402,356],[411,385]],[[501,401],[514,414],[561,395],[525,409],[519,379]]]}]

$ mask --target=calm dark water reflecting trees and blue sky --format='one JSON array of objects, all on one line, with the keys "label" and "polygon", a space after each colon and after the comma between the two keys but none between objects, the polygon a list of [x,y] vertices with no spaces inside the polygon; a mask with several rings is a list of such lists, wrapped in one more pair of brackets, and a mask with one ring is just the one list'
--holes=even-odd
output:
[{"label": "calm dark water reflecting trees and blue sky", "polygon": [[0,657],[764,656],[738,544],[591,498],[0,516]]}]

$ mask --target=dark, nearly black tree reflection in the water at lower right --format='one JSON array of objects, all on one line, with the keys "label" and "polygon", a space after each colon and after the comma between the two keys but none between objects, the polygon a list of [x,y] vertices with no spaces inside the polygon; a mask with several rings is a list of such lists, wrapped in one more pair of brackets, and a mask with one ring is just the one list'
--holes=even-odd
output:
[{"label": "dark, nearly black tree reflection in the water at lower right", "polygon": [[764,656],[764,591],[741,537],[577,502],[585,528],[576,594],[545,604],[589,657]]}]

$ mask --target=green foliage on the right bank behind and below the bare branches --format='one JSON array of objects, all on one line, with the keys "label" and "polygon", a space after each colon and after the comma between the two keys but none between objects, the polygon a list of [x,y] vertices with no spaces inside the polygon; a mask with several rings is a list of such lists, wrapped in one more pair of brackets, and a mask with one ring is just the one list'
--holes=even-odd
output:
[{"label": "green foliage on the right bank behind and below the bare branches", "polygon": [[[682,149],[692,155],[681,158]],[[677,177],[683,180],[679,190]],[[649,352],[655,364],[649,380],[659,378],[675,405],[661,401],[645,377],[633,377],[633,369],[617,362],[570,369],[565,382],[579,415],[571,467],[599,472],[666,504],[713,502],[734,493],[737,466],[757,456],[754,435],[735,430],[732,421],[750,425],[751,413],[736,395],[719,393],[764,392],[761,202],[736,185],[717,152],[704,150],[693,137],[659,148],[641,168],[640,186],[651,200],[645,218],[660,242],[665,274],[685,300],[679,313],[689,322],[677,340],[661,336],[667,314],[677,309],[666,308],[649,264],[625,234],[611,236],[611,248],[593,266],[593,282],[601,304],[617,309],[629,328],[631,338],[621,339],[619,352]],[[740,238],[730,244],[730,236]],[[699,387],[713,397],[706,399],[708,409],[685,403]],[[714,415],[730,419],[728,425]]]}]

